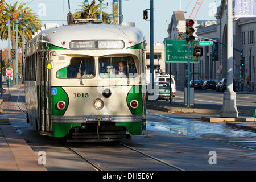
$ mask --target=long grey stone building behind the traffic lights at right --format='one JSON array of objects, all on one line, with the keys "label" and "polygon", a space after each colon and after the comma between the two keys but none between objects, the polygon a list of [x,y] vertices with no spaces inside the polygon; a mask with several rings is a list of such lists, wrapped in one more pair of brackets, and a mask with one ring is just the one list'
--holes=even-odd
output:
[{"label": "long grey stone building behind the traffic lights at right", "polygon": [[[234,3],[233,3],[234,6]],[[227,5],[222,1],[215,15],[216,21],[196,21],[195,36],[201,41],[213,40],[212,46],[200,46],[204,48],[203,56],[199,63],[195,63],[194,71],[191,65],[191,73],[195,74],[195,79],[208,78],[216,82],[227,75]],[[246,78],[250,75],[251,81],[256,81],[255,63],[255,31],[256,18],[233,18],[233,78],[241,81],[240,60],[245,60],[245,69],[242,74],[243,86],[247,85]],[[174,11],[171,23],[167,29],[169,37],[166,39],[176,39],[177,32],[185,34],[185,18],[183,11]],[[185,83],[187,73],[187,63],[172,63],[171,73],[176,76],[180,84]],[[170,65],[166,64],[167,73],[170,73]],[[192,78],[192,75],[191,75]],[[246,81],[246,82],[245,82]],[[246,83],[246,84],[245,84]],[[240,84],[241,86],[241,84]]]}]

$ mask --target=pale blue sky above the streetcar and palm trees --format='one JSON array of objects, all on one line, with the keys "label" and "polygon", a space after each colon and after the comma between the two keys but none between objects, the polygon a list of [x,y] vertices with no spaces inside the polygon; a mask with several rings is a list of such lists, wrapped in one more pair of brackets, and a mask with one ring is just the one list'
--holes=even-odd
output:
[{"label": "pale blue sky above the streetcar and palm trees", "polygon": [[[39,15],[42,26],[45,23],[55,22],[60,25],[67,24],[68,0],[6,0],[6,3],[13,4],[18,1],[26,3],[34,13]],[[88,0],[89,3],[92,0]],[[119,0],[118,0],[119,1]],[[75,13],[79,5],[84,0],[70,0],[71,13]],[[104,0],[105,6],[102,11],[112,14],[112,0]],[[163,43],[164,38],[168,37],[167,28],[171,22],[174,11],[184,11],[185,19],[191,15],[197,0],[154,0],[154,42]],[[96,3],[100,1],[96,0]],[[108,3],[108,6],[106,4]],[[197,13],[195,20],[216,20],[217,7],[221,0],[204,0]],[[141,29],[146,37],[146,42],[150,42],[150,21],[143,19],[143,10],[150,9],[150,0],[122,0],[123,22],[135,22],[135,27]],[[148,11],[148,15],[150,12]],[[0,49],[7,48],[7,42],[0,41]]]}]

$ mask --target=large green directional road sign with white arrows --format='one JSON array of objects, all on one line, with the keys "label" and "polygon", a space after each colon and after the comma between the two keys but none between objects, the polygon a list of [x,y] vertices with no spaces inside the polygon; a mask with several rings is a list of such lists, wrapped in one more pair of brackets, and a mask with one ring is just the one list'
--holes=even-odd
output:
[{"label": "large green directional road sign with white arrows", "polygon": [[[199,40],[190,43],[190,63],[198,63],[193,57],[193,47],[199,47]],[[166,63],[188,63],[188,43],[186,40],[166,40]]]}]

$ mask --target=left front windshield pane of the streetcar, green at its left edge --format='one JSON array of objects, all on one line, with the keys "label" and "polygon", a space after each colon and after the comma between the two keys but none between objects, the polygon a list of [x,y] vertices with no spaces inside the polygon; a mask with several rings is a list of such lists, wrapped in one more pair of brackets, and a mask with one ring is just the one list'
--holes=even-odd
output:
[{"label": "left front windshield pane of the streetcar, green at its left edge", "polygon": [[72,57],[71,64],[57,72],[57,78],[93,78],[94,76],[93,57]]}]

